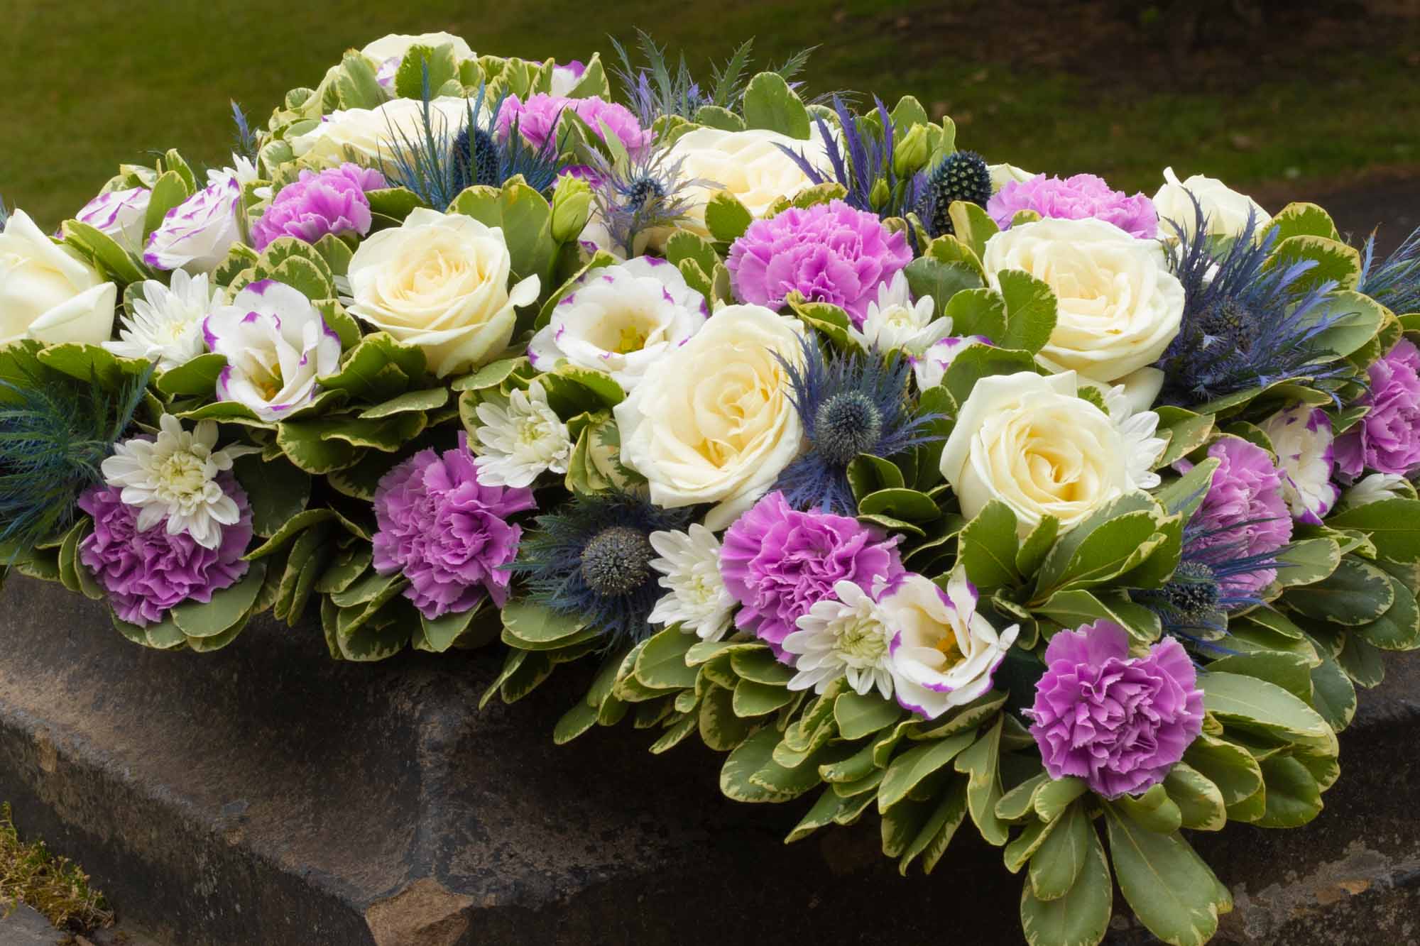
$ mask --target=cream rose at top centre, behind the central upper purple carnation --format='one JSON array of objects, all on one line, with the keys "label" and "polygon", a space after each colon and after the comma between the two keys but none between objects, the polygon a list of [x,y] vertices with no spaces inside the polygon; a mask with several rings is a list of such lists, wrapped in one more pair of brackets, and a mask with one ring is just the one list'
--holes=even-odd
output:
[{"label": "cream rose at top centre, behind the central upper purple carnation", "polygon": [[684,189],[693,206],[683,229],[709,234],[704,227],[706,205],[719,190],[738,197],[750,213],[763,217],[780,197],[792,197],[814,185],[808,175],[781,149],[788,148],[819,166],[825,161],[822,139],[815,132],[809,141],[790,138],[765,128],[743,132],[697,128],[670,146],[669,163],[680,162],[680,173],[703,185]]}]

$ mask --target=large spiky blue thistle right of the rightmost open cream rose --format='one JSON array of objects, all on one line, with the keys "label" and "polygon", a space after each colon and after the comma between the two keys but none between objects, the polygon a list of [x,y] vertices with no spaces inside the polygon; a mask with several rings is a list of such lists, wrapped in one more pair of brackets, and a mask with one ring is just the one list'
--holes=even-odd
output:
[{"label": "large spiky blue thistle right of the rightmost open cream rose", "polygon": [[1203,207],[1194,199],[1190,236],[1174,222],[1179,243],[1167,249],[1169,267],[1183,283],[1183,322],[1156,365],[1164,372],[1164,403],[1198,405],[1248,388],[1279,381],[1325,381],[1343,364],[1328,364],[1333,352],[1318,338],[1345,312],[1318,312],[1336,283],[1308,290],[1298,280],[1316,263],[1301,260],[1268,267],[1277,230],[1257,239],[1248,214],[1241,236],[1220,244],[1208,236]]}]

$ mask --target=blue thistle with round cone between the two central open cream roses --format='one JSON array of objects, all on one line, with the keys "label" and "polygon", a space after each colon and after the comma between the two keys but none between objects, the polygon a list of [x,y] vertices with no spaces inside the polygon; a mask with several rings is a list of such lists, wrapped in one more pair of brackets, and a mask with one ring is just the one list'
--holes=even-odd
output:
[{"label": "blue thistle with round cone between the two central open cream roses", "polygon": [[799,345],[802,368],[780,361],[809,447],[780,473],[774,489],[794,509],[852,516],[858,503],[848,483],[848,464],[859,453],[886,459],[940,439],[926,433],[934,418],[912,412],[912,365],[906,359],[886,361],[875,349],[829,361],[812,338],[802,338]]}]

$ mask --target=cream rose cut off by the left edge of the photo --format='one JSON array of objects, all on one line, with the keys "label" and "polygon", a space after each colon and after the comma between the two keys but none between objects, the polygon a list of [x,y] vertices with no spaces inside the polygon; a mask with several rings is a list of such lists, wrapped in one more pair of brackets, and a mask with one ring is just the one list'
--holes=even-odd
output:
[{"label": "cream rose cut off by the left edge of the photo", "polygon": [[0,233],[0,348],[21,338],[97,345],[114,334],[118,287],[24,210]]}]

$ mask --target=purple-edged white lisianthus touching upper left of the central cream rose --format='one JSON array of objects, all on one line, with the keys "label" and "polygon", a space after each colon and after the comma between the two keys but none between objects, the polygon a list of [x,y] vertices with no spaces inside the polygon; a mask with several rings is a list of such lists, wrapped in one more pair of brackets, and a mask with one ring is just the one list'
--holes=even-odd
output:
[{"label": "purple-edged white lisianthus touching upper left of the central cream rose", "polygon": [[609,374],[622,391],[646,368],[684,344],[710,317],[706,297],[670,263],[638,257],[592,270],[552,308],[528,342],[538,371],[558,362]]}]

